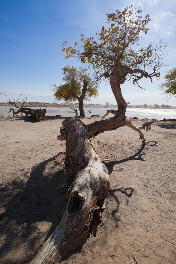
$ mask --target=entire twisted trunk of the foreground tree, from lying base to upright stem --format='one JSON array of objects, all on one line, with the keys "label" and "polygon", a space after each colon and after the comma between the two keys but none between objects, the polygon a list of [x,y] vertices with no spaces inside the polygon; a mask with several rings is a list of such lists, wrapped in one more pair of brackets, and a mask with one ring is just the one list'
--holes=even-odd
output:
[{"label": "entire twisted trunk of the foreground tree, from lying base to upright stem", "polygon": [[68,253],[82,246],[90,232],[94,212],[99,212],[104,207],[104,198],[110,189],[109,173],[93,149],[90,138],[126,125],[140,134],[142,145],[146,144],[141,129],[146,128],[149,131],[153,121],[136,128],[126,118],[126,102],[120,88],[124,81],[125,77],[119,79],[117,73],[110,74],[111,88],[118,105],[118,110],[107,112],[113,113],[113,117],[89,125],[84,125],[74,117],[63,121],[58,140],[66,140],[65,164],[73,183],[69,188],[68,202],[58,227],[31,264],[61,261]]}]

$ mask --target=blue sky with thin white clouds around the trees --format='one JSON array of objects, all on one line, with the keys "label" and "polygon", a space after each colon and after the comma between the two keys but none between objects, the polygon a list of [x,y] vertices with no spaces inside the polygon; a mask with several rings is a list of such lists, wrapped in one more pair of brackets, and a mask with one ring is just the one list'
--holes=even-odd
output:
[{"label": "blue sky with thin white clouds around the trees", "polygon": [[[158,37],[169,41],[167,49],[168,64],[162,67],[161,78],[165,72],[176,66],[176,4],[175,0],[112,1],[105,0],[0,0],[0,92],[17,98],[20,92],[29,93],[28,101],[53,102],[50,83],[62,83],[63,68],[67,63],[78,67],[76,58],[65,60],[62,43],[66,40],[71,46],[80,40],[80,34],[94,36],[106,25],[106,13],[122,10],[133,4],[141,8],[143,15],[150,14],[150,31],[146,42],[156,41]],[[126,82],[122,94],[131,105],[170,104],[176,106],[176,99],[167,102],[158,91],[160,81],[153,79],[140,81],[146,91]],[[4,99],[1,97],[0,102]],[[99,96],[91,103],[115,104],[115,98],[108,83],[99,85]]]}]

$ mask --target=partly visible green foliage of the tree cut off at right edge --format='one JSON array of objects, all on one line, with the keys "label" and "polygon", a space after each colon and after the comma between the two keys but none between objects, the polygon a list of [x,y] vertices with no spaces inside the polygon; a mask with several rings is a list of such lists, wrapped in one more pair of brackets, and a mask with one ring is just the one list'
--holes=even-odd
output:
[{"label": "partly visible green foliage of the tree cut off at right edge", "polygon": [[166,72],[163,82],[160,83],[159,89],[170,96],[176,96],[176,67]]}]

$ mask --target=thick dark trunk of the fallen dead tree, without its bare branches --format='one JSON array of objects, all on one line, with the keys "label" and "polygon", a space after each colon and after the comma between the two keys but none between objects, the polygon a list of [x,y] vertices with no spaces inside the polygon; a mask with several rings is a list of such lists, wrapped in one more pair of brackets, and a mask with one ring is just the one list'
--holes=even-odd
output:
[{"label": "thick dark trunk of the fallen dead tree, without its bare branches", "polygon": [[13,108],[10,109],[9,112],[13,112],[13,116],[17,115],[18,113],[24,113],[26,115],[26,117],[28,115],[31,115],[32,117],[34,117],[35,121],[39,122],[39,121],[44,121],[47,118],[45,117],[46,114],[46,108],[45,109],[31,109],[31,108],[27,108],[27,107],[21,107],[19,108],[17,111],[15,111]]}]

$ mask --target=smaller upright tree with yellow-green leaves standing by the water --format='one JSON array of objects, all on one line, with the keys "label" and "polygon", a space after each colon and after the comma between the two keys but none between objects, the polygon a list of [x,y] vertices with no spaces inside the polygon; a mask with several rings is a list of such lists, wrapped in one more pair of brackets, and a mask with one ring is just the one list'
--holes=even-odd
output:
[{"label": "smaller upright tree with yellow-green leaves standing by the water", "polygon": [[55,91],[54,96],[58,101],[75,102],[78,100],[80,116],[85,117],[83,100],[89,100],[90,97],[97,97],[98,88],[87,73],[87,69],[83,67],[79,67],[79,69],[70,67],[67,64],[62,69],[64,84],[60,84],[58,87],[56,84],[53,84],[51,87],[55,87],[53,89]]}]

